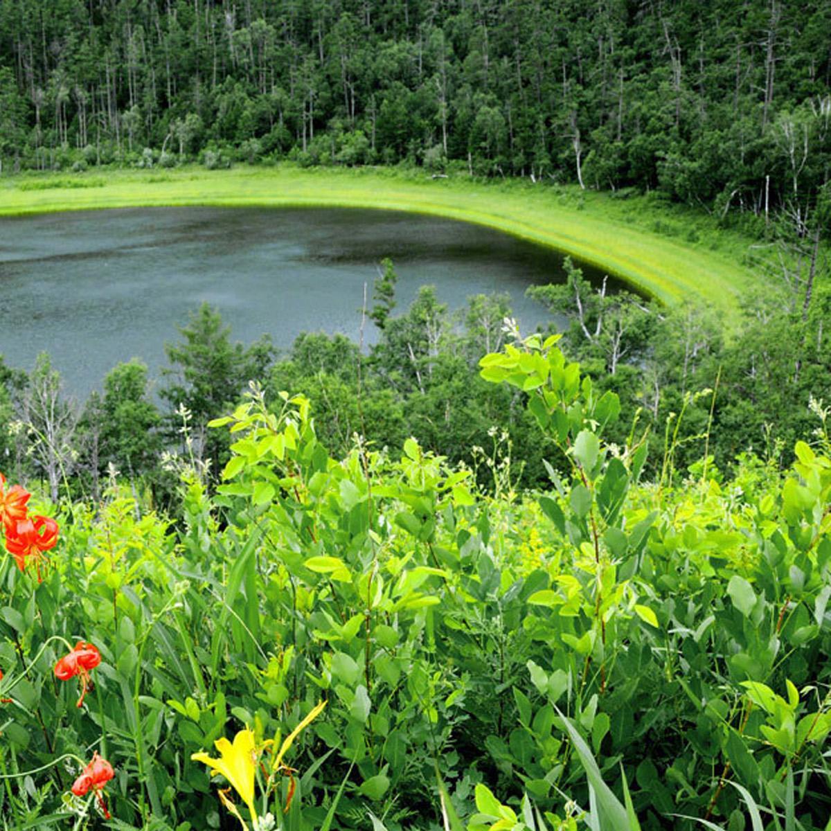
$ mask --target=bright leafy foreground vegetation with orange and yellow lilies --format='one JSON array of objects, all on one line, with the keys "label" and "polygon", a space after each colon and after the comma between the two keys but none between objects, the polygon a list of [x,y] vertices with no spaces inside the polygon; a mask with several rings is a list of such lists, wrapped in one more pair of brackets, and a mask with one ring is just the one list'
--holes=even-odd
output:
[{"label": "bright leafy foreground vegetation with orange and yellow lilies", "polygon": [[504,458],[489,495],[413,439],[334,459],[256,385],[175,522],[6,486],[7,827],[827,828],[828,411],[791,470],[647,482],[557,341],[481,361],[550,460],[523,499]]}]

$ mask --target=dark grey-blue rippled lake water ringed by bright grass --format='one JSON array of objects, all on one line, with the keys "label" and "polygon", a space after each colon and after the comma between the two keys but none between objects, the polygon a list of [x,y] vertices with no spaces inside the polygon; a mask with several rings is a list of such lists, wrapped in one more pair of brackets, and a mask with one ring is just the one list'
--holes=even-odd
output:
[{"label": "dark grey-blue rippled lake water ringed by bright grass", "polygon": [[[263,332],[288,347],[299,332],[359,337],[363,285],[391,257],[396,312],[432,283],[450,308],[507,291],[524,332],[547,313],[524,297],[563,278],[562,257],[448,219],[357,209],[123,209],[0,219],[0,352],[30,370],[52,354],[84,396],[118,361],[159,376],[164,343],[202,301],[232,337]],[[599,275],[585,268],[587,276]],[[365,341],[376,337],[371,324]]]}]

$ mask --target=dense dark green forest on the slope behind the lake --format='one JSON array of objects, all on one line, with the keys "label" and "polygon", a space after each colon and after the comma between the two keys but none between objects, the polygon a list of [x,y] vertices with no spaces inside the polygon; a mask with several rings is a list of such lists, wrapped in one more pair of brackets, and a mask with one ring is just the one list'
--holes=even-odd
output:
[{"label": "dense dark green forest on the slope behind the lake", "polygon": [[202,153],[660,188],[800,234],[831,159],[826,2],[0,4],[6,165]]}]

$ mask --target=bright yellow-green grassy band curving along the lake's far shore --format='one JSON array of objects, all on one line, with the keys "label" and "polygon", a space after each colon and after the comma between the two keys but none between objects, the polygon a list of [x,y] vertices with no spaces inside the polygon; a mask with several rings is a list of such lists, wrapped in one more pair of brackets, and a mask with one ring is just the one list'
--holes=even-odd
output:
[{"label": "bright yellow-green grassy band curving along the lake's far shore", "polygon": [[[613,199],[570,186],[288,166],[0,179],[0,216],[197,204],[371,208],[460,219],[573,254],[667,304],[697,297],[727,319],[738,316],[739,299],[755,282],[742,264],[753,240],[716,229],[706,214],[667,213],[643,197]],[[666,222],[659,219],[664,215]],[[667,238],[666,232],[692,241]]]}]

